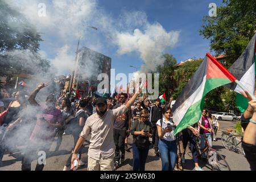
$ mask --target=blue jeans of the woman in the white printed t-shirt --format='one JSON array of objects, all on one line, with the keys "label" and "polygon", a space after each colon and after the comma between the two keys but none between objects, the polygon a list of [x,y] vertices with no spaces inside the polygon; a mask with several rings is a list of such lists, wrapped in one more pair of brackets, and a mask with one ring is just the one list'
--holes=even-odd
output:
[{"label": "blue jeans of the woman in the white printed t-shirt", "polygon": [[167,141],[159,138],[158,148],[161,154],[162,171],[173,171],[177,158],[176,140]]}]

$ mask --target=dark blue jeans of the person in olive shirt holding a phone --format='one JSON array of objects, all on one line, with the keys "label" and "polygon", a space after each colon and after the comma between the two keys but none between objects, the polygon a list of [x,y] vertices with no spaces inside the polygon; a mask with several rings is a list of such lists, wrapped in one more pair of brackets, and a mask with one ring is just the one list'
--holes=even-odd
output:
[{"label": "dark blue jeans of the person in olive shirt holding a phone", "polygon": [[133,171],[145,171],[145,164],[148,155],[148,148],[137,148],[133,143]]}]

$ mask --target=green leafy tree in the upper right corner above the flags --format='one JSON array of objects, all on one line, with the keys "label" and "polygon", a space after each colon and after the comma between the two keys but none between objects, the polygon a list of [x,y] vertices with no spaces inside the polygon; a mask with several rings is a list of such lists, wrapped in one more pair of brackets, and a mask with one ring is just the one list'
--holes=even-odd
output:
[{"label": "green leafy tree in the upper right corner above the flags", "polygon": [[224,53],[226,67],[242,54],[256,30],[256,5],[253,0],[224,0],[217,16],[205,16],[200,35],[210,39],[210,49]]}]

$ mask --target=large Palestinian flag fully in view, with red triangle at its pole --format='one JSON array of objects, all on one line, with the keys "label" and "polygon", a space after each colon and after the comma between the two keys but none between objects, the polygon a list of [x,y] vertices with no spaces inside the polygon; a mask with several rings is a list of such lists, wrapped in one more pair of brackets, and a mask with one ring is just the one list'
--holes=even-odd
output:
[{"label": "large Palestinian flag fully in view, with red triangle at its pole", "polygon": [[174,134],[199,121],[204,107],[204,96],[210,90],[235,80],[236,77],[207,53],[172,107],[172,118],[177,126]]}]

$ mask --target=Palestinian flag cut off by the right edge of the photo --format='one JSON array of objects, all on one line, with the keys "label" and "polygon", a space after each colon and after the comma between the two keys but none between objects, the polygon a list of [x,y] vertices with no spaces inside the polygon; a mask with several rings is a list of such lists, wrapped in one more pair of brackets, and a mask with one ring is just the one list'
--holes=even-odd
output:
[{"label": "Palestinian flag cut off by the right edge of the photo", "polygon": [[[242,55],[229,68],[229,71],[237,77],[237,80],[239,80],[252,95],[254,95],[255,90],[255,38],[256,34],[254,34]],[[239,93],[243,90],[235,82],[227,85],[227,87],[237,92],[237,107],[240,109],[241,113],[243,113],[248,106],[248,100]]]}]

